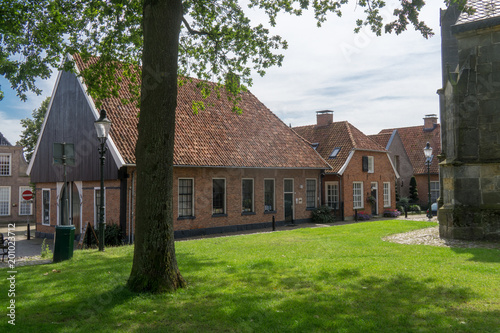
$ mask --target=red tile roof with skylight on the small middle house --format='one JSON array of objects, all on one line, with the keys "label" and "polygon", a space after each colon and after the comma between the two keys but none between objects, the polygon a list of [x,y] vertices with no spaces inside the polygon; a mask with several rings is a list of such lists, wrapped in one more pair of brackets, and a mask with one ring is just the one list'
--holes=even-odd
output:
[{"label": "red tile roof with skylight on the small middle house", "polygon": [[[330,172],[333,173],[340,171],[353,149],[386,151],[347,121],[334,122],[326,126],[300,126],[293,129],[309,142],[319,144],[316,151],[332,166]],[[340,148],[338,155],[335,158],[329,158],[335,148]]]}]

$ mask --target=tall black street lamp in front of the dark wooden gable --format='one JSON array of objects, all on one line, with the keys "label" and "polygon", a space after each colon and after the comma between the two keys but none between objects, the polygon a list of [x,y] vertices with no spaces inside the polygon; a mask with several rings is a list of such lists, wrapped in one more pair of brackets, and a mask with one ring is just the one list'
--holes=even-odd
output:
[{"label": "tall black street lamp in front of the dark wooden gable", "polygon": [[94,122],[97,137],[100,141],[99,155],[101,159],[101,195],[99,207],[99,251],[104,251],[104,161],[106,151],[106,139],[108,138],[109,129],[111,128],[111,121],[106,117],[106,111],[101,110],[99,119]]}]

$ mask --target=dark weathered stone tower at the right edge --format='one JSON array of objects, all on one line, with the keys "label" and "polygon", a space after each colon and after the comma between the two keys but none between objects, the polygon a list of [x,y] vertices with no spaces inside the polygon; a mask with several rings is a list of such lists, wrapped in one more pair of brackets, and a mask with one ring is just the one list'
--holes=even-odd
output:
[{"label": "dark weathered stone tower at the right edge", "polygon": [[453,59],[456,47],[458,65],[443,61],[439,232],[500,240],[500,0],[468,5],[473,14],[442,24],[456,39],[453,47],[443,39],[442,50]]}]

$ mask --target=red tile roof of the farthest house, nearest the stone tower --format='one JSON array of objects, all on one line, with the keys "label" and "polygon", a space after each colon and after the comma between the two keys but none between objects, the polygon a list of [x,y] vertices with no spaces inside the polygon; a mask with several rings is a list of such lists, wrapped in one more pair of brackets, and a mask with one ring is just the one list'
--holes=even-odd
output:
[{"label": "red tile roof of the farthest house, nearest the stone tower", "polygon": [[434,155],[430,172],[437,174],[439,173],[439,161],[436,156],[441,154],[441,125],[435,124],[435,126],[436,127],[433,130],[424,130],[424,126],[384,129],[380,131],[378,135],[388,133],[392,134],[394,130],[398,131],[399,136],[403,141],[406,154],[408,155],[408,158],[413,166],[414,174],[427,173],[424,147],[427,142],[429,142],[432,147],[432,155]]}]

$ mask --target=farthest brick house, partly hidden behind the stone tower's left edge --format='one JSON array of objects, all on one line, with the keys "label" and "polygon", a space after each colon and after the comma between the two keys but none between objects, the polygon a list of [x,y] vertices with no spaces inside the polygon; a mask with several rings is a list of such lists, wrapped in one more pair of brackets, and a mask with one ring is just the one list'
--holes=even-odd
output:
[{"label": "farthest brick house, partly hidden behind the stone tower's left edge", "polygon": [[[432,148],[432,163],[430,166],[431,202],[439,198],[439,160],[441,154],[441,126],[435,114],[426,115],[424,125],[384,129],[379,134],[370,136],[377,142],[384,144],[384,139],[390,136],[386,149],[396,170],[400,172],[401,187],[400,197],[410,196],[410,179],[415,176],[419,196],[418,204],[426,209],[428,206],[428,176],[424,156],[424,147],[429,142]],[[397,133],[397,134],[396,134]]]}]

